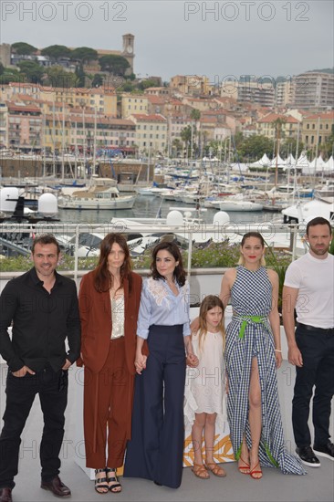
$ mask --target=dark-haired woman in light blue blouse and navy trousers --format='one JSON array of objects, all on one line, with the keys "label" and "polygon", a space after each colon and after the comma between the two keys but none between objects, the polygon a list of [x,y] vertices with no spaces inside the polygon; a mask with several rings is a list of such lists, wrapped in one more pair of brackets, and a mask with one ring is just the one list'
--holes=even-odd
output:
[{"label": "dark-haired woman in light blue blouse and navy trousers", "polygon": [[[189,323],[189,285],[178,246],[154,247],[151,277],[141,290],[137,326],[137,371],[132,434],[124,476],[151,479],[177,488],[183,471],[183,393],[186,357],[193,354]],[[148,341],[149,355],[142,353]],[[186,357],[185,357],[186,355]]]}]

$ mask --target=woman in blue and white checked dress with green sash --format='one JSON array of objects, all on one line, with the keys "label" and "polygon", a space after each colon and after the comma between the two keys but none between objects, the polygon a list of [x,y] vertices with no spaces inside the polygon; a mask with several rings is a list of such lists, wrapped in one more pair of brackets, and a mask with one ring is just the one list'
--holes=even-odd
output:
[{"label": "woman in blue and white checked dress with green sash", "polygon": [[261,234],[245,234],[239,267],[224,274],[220,298],[231,299],[233,318],[226,329],[227,413],[239,471],[262,477],[261,465],[285,474],[305,474],[284,447],[276,369],[282,362],[278,277],[266,269]]}]

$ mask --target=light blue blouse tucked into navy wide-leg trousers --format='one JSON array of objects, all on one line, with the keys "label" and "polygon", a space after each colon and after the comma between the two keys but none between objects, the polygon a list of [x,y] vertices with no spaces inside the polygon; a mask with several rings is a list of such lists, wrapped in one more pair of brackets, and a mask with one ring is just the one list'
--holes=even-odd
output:
[{"label": "light blue blouse tucked into navy wide-leg trousers", "polygon": [[142,339],[148,338],[152,324],[162,326],[183,324],[183,336],[191,334],[189,283],[186,281],[182,287],[175,284],[179,290],[177,296],[163,279],[154,280],[149,277],[143,281],[137,323],[137,335]]}]

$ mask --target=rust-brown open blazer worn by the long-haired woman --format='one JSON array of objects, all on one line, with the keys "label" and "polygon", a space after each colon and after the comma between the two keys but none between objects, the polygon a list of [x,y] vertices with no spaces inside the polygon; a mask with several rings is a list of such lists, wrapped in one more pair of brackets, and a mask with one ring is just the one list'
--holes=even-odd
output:
[{"label": "rust-brown open blazer worn by the long-haired woman", "polygon": [[[111,336],[110,292],[99,293],[94,288],[95,271],[82,277],[78,292],[81,320],[81,358],[78,366],[84,364],[93,373],[101,371],[107,360]],[[124,280],[124,337],[127,367],[135,374],[136,331],[138,311],[141,303],[141,276],[131,272],[132,288]],[[146,348],[144,349],[147,350]]]}]

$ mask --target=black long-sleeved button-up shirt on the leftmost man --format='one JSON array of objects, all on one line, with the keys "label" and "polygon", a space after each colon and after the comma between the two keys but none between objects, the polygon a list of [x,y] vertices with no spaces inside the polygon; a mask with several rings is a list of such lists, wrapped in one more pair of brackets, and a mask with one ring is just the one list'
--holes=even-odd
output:
[{"label": "black long-sleeved button-up shirt on the leftmost man", "polygon": [[[76,284],[55,271],[51,292],[43,288],[35,267],[10,280],[0,297],[0,353],[10,371],[23,366],[39,371],[47,362],[57,371],[80,353]],[[8,327],[13,321],[12,340]],[[68,339],[68,352],[65,340]]]}]

